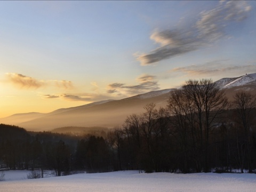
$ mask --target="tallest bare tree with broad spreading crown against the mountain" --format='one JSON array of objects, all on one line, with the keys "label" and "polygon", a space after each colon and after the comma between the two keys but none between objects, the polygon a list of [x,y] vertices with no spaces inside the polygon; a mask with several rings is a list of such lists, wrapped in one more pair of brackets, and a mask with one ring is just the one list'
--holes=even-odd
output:
[{"label": "tallest bare tree with broad spreading crown against the mountain", "polygon": [[[209,172],[209,134],[214,121],[229,107],[224,91],[212,79],[189,80],[182,86],[186,98],[194,106],[198,119],[204,172]],[[218,122],[217,122],[218,123]]]}]

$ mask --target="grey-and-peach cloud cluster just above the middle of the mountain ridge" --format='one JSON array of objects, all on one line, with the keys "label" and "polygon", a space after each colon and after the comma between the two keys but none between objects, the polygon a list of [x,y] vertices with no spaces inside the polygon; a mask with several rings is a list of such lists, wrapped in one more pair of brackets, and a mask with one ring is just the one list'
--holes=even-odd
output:
[{"label": "grey-and-peach cloud cluster just above the middle of the mountain ridge", "polygon": [[156,81],[153,75],[142,74],[137,78],[137,81],[139,82],[137,85],[126,85],[124,83],[109,84],[107,92],[131,95],[159,89],[158,81]]}]

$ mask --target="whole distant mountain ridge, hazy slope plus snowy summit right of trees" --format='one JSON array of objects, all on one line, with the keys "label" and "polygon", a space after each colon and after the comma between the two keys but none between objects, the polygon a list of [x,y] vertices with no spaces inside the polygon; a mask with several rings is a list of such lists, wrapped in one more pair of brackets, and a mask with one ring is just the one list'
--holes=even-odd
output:
[{"label": "whole distant mountain ridge, hazy slope plus snowy summit right of trees", "polygon": [[[251,91],[256,94],[256,74],[222,78],[215,83],[226,92],[230,100],[238,91]],[[63,127],[69,127],[69,129],[73,127],[72,129],[77,129],[79,132],[85,129],[81,127],[112,128],[122,126],[126,117],[133,113],[143,113],[145,111],[143,107],[148,103],[154,102],[157,108],[165,107],[173,90],[175,89],[151,91],[121,100],[93,102],[88,105],[54,110],[46,114],[15,114],[1,118],[0,123],[18,125],[28,131],[51,131],[58,127],[62,127],[62,132],[67,131]]]}]

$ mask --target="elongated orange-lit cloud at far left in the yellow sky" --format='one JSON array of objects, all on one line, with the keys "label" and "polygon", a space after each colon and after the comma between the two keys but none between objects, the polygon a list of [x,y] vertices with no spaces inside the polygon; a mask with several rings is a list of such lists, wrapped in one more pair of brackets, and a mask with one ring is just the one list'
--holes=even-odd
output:
[{"label": "elongated orange-lit cloud at far left in the yellow sky", "polygon": [[38,80],[17,73],[6,73],[7,82],[18,86],[20,89],[38,89],[40,87],[55,86],[60,89],[73,89],[73,83],[66,80]]}]

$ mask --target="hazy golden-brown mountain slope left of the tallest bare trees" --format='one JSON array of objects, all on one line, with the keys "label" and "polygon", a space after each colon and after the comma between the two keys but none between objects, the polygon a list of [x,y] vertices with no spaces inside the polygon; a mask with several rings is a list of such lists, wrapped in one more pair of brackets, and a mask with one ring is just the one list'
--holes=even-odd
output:
[{"label": "hazy golden-brown mountain slope left of the tallest bare trees", "polygon": [[[51,131],[58,127],[108,127],[122,126],[125,118],[133,113],[140,114],[143,107],[154,102],[157,107],[165,107],[170,91],[174,89],[151,91],[121,100],[107,100],[88,105],[63,108],[46,114],[20,114],[20,118],[9,116],[0,123],[14,124],[28,131]],[[23,118],[26,117],[26,118]],[[26,121],[28,119],[28,121]]]}]

